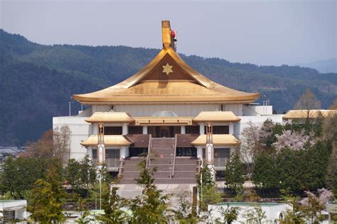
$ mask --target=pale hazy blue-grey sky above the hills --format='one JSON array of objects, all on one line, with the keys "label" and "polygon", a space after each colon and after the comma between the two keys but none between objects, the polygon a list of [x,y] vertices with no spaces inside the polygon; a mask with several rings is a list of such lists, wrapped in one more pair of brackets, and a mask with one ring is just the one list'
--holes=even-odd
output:
[{"label": "pale hazy blue-grey sky above the hills", "polygon": [[43,44],[161,48],[161,20],[178,52],[281,65],[336,58],[336,1],[6,1],[0,27]]}]

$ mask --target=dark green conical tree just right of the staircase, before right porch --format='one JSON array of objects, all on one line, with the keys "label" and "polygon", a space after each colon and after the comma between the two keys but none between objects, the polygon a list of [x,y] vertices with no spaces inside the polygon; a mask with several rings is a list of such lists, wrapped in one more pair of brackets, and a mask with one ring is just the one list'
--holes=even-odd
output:
[{"label": "dark green conical tree just right of the staircase, before right porch", "polygon": [[225,169],[226,185],[235,192],[240,191],[242,184],[245,183],[245,174],[245,166],[241,163],[239,154],[232,154]]}]

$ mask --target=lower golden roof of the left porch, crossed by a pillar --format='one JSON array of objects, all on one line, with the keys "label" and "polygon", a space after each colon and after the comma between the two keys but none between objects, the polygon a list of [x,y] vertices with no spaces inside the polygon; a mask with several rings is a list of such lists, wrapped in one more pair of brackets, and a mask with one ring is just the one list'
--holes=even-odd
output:
[{"label": "lower golden roof of the left porch, crossed by a pillar", "polygon": [[[82,146],[97,146],[98,136],[90,135],[85,141],[81,142]],[[134,143],[125,135],[105,135],[105,146],[129,146]]]}]

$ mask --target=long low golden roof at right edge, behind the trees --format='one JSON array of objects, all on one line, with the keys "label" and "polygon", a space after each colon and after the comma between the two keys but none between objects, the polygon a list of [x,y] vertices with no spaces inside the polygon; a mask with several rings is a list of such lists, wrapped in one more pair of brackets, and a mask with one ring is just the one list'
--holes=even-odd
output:
[{"label": "long low golden roof at right edge, behind the trees", "polygon": [[[321,114],[323,117],[332,117],[337,114],[337,110],[309,110],[309,118],[317,118]],[[308,117],[308,110],[289,110],[284,114],[283,119],[305,119]]]}]

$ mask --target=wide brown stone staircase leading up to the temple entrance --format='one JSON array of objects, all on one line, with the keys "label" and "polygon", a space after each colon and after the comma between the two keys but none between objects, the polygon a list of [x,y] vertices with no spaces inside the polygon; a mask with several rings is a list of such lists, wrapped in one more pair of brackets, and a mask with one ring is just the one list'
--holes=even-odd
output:
[{"label": "wide brown stone staircase leading up to the temple entrance", "polygon": [[[156,168],[154,183],[196,183],[197,159],[190,157],[176,157],[174,138],[150,139],[150,160],[148,167]],[[175,162],[174,162],[174,159]],[[120,184],[136,183],[139,176],[138,164],[144,158],[131,157],[125,159]],[[174,176],[171,176],[174,164]]]}]

